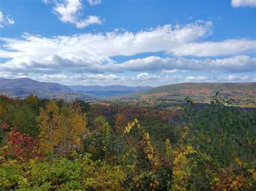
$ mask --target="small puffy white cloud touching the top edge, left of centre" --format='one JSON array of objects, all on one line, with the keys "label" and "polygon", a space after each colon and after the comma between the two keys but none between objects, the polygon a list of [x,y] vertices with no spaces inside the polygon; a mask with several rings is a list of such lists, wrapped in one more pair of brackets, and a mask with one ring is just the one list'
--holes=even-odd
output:
[{"label": "small puffy white cloud touching the top edge, left of centre", "polygon": [[[43,2],[45,4],[49,3],[48,0],[43,0]],[[78,29],[84,28],[92,24],[102,24],[100,17],[98,16],[89,15],[84,19],[80,18],[83,15],[84,10],[82,0],[61,0],[53,1],[53,3],[55,3],[55,6],[53,7],[53,12],[63,23],[75,24]],[[91,1],[91,3],[99,4],[100,1]]]}]

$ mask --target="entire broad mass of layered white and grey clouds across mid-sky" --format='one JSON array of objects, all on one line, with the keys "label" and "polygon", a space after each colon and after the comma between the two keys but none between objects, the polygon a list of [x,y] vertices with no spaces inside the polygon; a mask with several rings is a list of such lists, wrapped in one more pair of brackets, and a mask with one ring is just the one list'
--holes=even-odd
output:
[{"label": "entire broad mass of layered white and grey clouds across mid-sky", "polygon": [[[136,33],[114,30],[107,33],[82,33],[73,36],[43,37],[24,33],[21,39],[0,37],[2,41],[0,58],[8,59],[0,64],[0,71],[6,75],[23,73],[29,76],[69,73],[69,77],[86,73],[87,77],[95,81],[105,77],[110,80],[112,77],[113,82],[120,80],[120,76],[114,74],[140,73],[138,76],[129,77],[134,83],[139,79],[144,81],[153,79],[152,83],[157,81],[158,75],[151,73],[166,75],[186,71],[255,72],[256,58],[237,54],[255,52],[256,41],[227,39],[198,43],[212,33],[211,27],[211,22],[199,20],[186,25],[158,26]],[[113,56],[118,55],[132,56],[154,52],[165,52],[167,55],[164,56],[165,58],[147,56],[121,63],[113,60]],[[187,55],[228,56],[221,59],[181,57]],[[104,75],[104,73],[114,74]],[[176,77],[176,81],[178,80]]]}]

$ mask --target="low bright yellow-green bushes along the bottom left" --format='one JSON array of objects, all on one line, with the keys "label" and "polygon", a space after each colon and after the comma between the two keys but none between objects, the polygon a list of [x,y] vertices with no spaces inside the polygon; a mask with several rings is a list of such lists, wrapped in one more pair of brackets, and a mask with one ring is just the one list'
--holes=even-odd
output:
[{"label": "low bright yellow-green bushes along the bottom left", "polygon": [[1,189],[39,190],[118,190],[126,179],[120,166],[93,161],[90,154],[77,156],[74,161],[59,158],[49,161],[31,159],[25,164],[6,161],[0,165]]}]

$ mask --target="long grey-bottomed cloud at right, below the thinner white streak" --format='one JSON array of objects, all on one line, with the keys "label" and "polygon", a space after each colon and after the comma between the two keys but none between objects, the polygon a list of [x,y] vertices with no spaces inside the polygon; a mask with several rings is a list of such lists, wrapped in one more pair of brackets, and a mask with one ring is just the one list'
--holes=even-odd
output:
[{"label": "long grey-bottomed cloud at right, below the thinner white streak", "polygon": [[[113,71],[151,71],[172,73],[180,71],[196,72],[226,72],[243,73],[256,71],[256,58],[240,55],[224,59],[184,59],[184,58],[161,58],[158,56],[149,56],[143,59],[134,59],[120,64],[109,64],[107,68],[113,68]],[[112,67],[110,67],[112,66]]]}]

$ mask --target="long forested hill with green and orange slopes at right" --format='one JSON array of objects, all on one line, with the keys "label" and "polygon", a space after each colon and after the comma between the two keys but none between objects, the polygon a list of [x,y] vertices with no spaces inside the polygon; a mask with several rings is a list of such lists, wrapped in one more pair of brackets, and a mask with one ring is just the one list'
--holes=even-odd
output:
[{"label": "long forested hill with green and orange slopes at right", "polygon": [[140,100],[184,103],[191,97],[198,103],[210,103],[220,91],[222,98],[233,98],[237,105],[256,107],[256,83],[179,83],[114,97],[114,100]]}]

